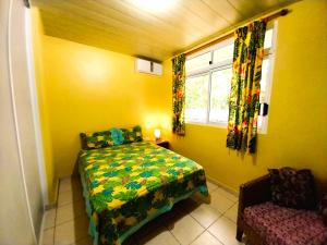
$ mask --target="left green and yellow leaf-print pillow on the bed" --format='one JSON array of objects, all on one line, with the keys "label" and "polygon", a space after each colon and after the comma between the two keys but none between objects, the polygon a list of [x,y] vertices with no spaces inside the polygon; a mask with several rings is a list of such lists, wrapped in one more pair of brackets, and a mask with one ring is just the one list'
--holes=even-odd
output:
[{"label": "left green and yellow leaf-print pillow on the bed", "polygon": [[113,140],[110,131],[81,133],[80,136],[83,149],[97,149],[113,146]]}]

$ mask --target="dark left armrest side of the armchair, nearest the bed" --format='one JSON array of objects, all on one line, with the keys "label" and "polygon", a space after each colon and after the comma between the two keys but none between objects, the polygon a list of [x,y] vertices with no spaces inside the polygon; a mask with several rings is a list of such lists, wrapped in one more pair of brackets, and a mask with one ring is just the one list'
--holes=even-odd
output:
[{"label": "dark left armrest side of the armchair, nearest the bed", "polygon": [[250,181],[240,186],[239,213],[244,208],[271,200],[269,174]]}]

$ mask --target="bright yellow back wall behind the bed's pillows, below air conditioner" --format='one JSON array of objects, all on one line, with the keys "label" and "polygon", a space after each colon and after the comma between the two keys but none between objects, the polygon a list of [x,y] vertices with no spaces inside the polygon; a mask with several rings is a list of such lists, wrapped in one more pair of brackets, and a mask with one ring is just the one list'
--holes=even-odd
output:
[{"label": "bright yellow back wall behind the bed's pillows, below air conditioner", "polygon": [[73,173],[81,132],[141,124],[153,137],[170,132],[162,76],[135,73],[135,58],[44,36],[44,85],[53,163],[59,177]]}]

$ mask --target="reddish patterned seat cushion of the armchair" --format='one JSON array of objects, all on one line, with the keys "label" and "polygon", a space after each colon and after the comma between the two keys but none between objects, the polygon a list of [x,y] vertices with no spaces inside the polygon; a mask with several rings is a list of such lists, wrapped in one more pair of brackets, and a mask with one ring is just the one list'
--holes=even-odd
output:
[{"label": "reddish patterned seat cushion of the armchair", "polygon": [[267,245],[327,244],[327,228],[315,211],[284,208],[268,201],[245,208],[244,219]]}]

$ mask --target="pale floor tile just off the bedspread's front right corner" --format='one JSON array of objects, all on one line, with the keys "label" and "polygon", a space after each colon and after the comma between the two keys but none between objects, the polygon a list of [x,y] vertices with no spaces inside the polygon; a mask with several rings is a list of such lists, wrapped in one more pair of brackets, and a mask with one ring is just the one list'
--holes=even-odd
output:
[{"label": "pale floor tile just off the bedspread's front right corner", "polygon": [[207,229],[221,213],[210,205],[202,204],[190,213],[202,226]]}]

